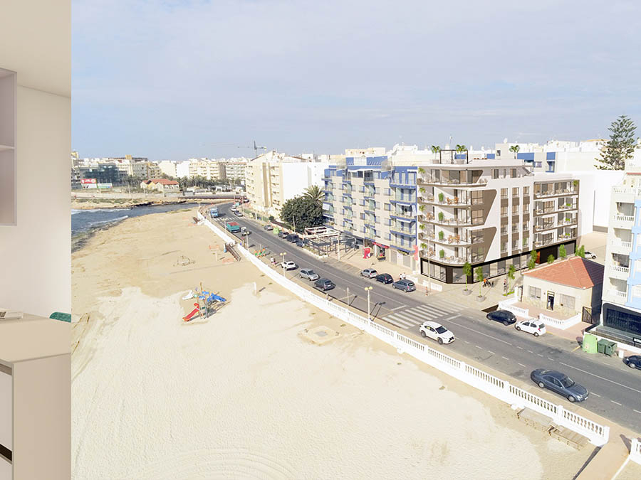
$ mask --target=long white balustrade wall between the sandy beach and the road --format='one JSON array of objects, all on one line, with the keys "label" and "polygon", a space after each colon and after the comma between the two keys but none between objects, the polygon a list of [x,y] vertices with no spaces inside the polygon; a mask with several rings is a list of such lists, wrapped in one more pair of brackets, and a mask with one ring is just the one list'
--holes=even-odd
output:
[{"label": "long white balustrade wall between the sandy beach and the road", "polygon": [[[201,213],[198,213],[198,215],[200,219],[204,220],[204,216]],[[229,235],[226,235],[222,229],[212,224],[209,220],[204,220],[204,224],[224,240],[229,238]],[[503,380],[486,373],[474,366],[467,365],[467,363],[448,356],[434,348],[430,348],[414,338],[407,337],[395,330],[388,329],[385,326],[375,323],[375,321],[368,320],[364,316],[356,314],[350,309],[331,302],[329,299],[324,299],[314,292],[310,292],[309,290],[301,287],[301,285],[298,285],[291,279],[286,278],[281,274],[280,269],[270,267],[259,258],[252,255],[249,250],[246,250],[240,244],[238,244],[236,248],[247,260],[256,265],[261,272],[266,274],[267,277],[273,279],[274,282],[286,287],[290,292],[298,295],[298,297],[301,297],[301,299],[305,300],[309,304],[332,314],[342,321],[348,322],[372,336],[380,338],[380,340],[385,341],[385,343],[397,348],[399,353],[408,353],[419,361],[427,363],[427,365],[437,368],[438,370],[441,370],[442,372],[447,373],[448,375],[451,375],[474,388],[482,390],[499,400],[518,407],[528,407],[536,412],[542,413],[543,415],[547,415],[548,417],[551,417],[553,422],[557,425],[562,425],[563,427],[584,435],[591,443],[599,447],[608,442],[610,427],[599,425],[574,412],[568,412],[563,409],[561,405],[555,405],[548,400],[544,400],[543,398],[534,395],[533,393],[529,393],[526,390],[516,387],[516,385],[511,385],[507,380]],[[516,299],[511,299],[501,303],[511,306],[511,302],[514,301],[516,301]]]}]

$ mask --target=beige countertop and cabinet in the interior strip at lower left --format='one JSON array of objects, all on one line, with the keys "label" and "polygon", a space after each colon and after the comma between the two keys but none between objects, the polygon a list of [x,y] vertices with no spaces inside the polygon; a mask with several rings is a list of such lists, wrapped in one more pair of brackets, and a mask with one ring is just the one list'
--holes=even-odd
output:
[{"label": "beige countertop and cabinet in the interior strip at lower left", "polygon": [[0,321],[0,480],[71,478],[71,324]]}]

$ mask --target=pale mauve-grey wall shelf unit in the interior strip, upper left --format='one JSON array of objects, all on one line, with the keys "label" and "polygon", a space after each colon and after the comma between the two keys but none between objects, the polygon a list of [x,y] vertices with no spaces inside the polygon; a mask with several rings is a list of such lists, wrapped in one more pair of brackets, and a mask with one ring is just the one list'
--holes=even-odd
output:
[{"label": "pale mauve-grey wall shelf unit in the interior strip, upper left", "polygon": [[17,223],[16,77],[0,68],[0,225]]}]

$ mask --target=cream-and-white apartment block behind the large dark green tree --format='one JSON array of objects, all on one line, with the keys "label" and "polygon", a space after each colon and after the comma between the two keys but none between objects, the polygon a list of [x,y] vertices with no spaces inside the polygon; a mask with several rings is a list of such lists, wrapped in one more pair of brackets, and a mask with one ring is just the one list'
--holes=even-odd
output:
[{"label": "cream-and-white apartment block behind the large dark green tree", "polygon": [[251,206],[277,216],[283,204],[312,185],[323,186],[328,162],[268,151],[248,162],[245,186]]}]

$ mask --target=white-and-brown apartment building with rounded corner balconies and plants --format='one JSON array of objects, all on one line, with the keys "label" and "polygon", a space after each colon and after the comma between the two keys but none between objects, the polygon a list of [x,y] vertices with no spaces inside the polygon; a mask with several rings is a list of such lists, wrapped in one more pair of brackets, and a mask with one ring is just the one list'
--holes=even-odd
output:
[{"label": "white-and-brown apartment building with rounded corner balconies and plants", "polygon": [[494,277],[509,265],[524,267],[531,250],[543,261],[558,257],[560,245],[575,250],[577,179],[535,175],[518,159],[468,157],[440,151],[419,164],[422,274],[429,270],[429,277],[464,283],[465,262],[480,266],[484,277]]}]

